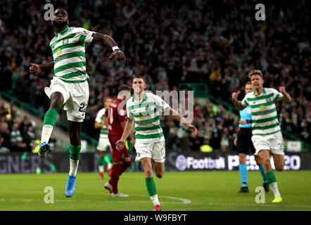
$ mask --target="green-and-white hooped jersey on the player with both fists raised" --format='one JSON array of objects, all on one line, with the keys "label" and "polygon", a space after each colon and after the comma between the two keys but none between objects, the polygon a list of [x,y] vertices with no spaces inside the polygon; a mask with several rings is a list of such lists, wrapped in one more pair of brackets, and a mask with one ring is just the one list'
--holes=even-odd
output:
[{"label": "green-and-white hooped jersey on the player with both fists raised", "polygon": [[283,94],[271,88],[263,88],[262,93],[258,96],[255,95],[255,91],[246,94],[242,105],[250,105],[253,135],[269,135],[281,131],[277,108],[274,104],[274,101],[279,101],[281,98],[283,98]]}]

